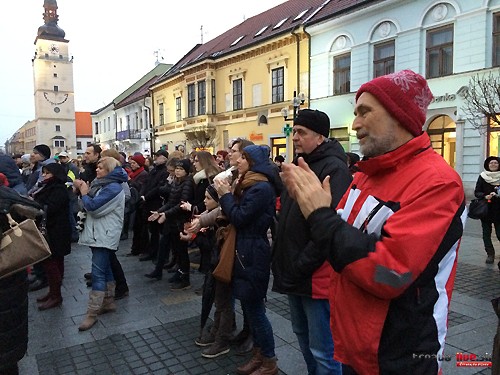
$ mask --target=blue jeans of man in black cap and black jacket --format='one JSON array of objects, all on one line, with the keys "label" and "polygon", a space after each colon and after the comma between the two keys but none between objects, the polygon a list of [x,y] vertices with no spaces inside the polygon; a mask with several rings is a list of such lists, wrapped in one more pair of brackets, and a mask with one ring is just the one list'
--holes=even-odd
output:
[{"label": "blue jeans of man in black cap and black jacket", "polygon": [[292,329],[297,335],[309,375],[342,374],[333,359],[330,304],[326,299],[289,295]]}]

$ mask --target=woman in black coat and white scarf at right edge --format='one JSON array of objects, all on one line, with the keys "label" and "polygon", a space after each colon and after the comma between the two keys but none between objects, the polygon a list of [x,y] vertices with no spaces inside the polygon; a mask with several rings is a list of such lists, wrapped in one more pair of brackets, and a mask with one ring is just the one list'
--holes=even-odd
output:
[{"label": "woman in black coat and white scarf at right edge", "polygon": [[477,179],[474,195],[476,198],[488,200],[488,216],[481,219],[483,228],[483,243],[486,250],[486,263],[492,264],[495,261],[495,248],[491,242],[492,225],[495,227],[495,234],[500,240],[500,158],[490,156],[484,161],[484,171]]}]

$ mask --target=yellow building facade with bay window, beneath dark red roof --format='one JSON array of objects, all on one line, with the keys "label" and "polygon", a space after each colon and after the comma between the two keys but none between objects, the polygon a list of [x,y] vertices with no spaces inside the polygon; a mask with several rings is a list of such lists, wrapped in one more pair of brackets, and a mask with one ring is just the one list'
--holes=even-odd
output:
[{"label": "yellow building facade with bay window, beneath dark red roof", "polygon": [[215,153],[241,137],[290,161],[291,134],[284,127],[292,126],[294,92],[303,93],[301,108],[307,107],[308,72],[309,37],[301,28],[186,64],[150,87],[156,149],[202,146]]}]

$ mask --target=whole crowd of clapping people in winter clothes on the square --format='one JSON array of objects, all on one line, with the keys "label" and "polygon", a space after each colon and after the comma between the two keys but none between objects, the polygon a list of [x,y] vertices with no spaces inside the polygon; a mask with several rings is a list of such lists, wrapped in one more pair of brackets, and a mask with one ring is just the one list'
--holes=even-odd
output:
[{"label": "whole crowd of clapping people in winter clothes on the square", "polygon": [[[46,215],[53,255],[30,286],[49,286],[39,309],[63,302],[64,257],[78,241],[92,251],[79,330],[115,311],[115,299],[129,293],[116,251],[132,232],[127,255],[155,264],[145,282],[166,270],[173,291],[191,287],[188,250],[199,248],[199,292],[215,313],[207,326],[202,311],[195,343],[205,358],[251,351],[238,374],[278,373],[266,315],[271,280],[288,296],[309,375],[439,373],[465,197],[422,131],[431,100],[426,80],[409,70],[362,85],[353,122],[361,160],[330,138],[328,116],[313,109],[294,119],[289,163],[241,138],[215,154],[160,149],[152,161],[93,144],[81,164],[35,146],[29,167],[19,157],[17,173],[1,172]],[[492,198],[499,159],[487,161],[476,195]],[[488,257],[491,223],[497,236],[500,228],[496,216],[483,223]],[[231,254],[229,281],[218,273],[223,253]],[[237,334],[236,301],[244,321]]]}]

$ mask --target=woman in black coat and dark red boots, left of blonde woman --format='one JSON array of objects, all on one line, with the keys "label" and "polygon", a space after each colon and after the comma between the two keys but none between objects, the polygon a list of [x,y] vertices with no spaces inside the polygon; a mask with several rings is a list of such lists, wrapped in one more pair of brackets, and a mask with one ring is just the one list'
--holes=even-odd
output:
[{"label": "woman in black coat and dark red boots, left of blonde woman", "polygon": [[52,309],[62,303],[61,285],[64,276],[64,257],[71,252],[71,225],[69,216],[69,193],[66,188],[66,173],[57,163],[42,168],[43,181],[33,194],[33,199],[43,207],[46,217],[46,239],[52,256],[42,262],[47,274],[49,292],[37,302],[39,310]]}]

